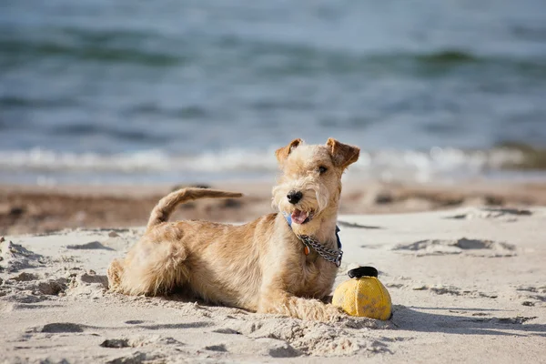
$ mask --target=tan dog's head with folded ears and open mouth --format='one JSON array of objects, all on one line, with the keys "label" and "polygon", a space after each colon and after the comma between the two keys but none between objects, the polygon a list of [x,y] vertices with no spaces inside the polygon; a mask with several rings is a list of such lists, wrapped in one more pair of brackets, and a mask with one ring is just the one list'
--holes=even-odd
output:
[{"label": "tan dog's head with folded ears and open mouth", "polygon": [[341,175],[359,159],[359,147],[329,138],[325,145],[292,140],[275,155],[282,175],[273,188],[273,206],[299,226],[309,224],[329,208],[337,213]]}]

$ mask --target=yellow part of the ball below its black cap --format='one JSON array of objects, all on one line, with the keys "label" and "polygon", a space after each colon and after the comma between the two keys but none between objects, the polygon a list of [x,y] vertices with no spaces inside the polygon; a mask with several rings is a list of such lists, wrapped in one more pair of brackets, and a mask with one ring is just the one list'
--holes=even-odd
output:
[{"label": "yellow part of the ball below its black cap", "polygon": [[392,303],[389,291],[376,277],[352,278],[334,291],[332,304],[350,316],[390,319]]}]

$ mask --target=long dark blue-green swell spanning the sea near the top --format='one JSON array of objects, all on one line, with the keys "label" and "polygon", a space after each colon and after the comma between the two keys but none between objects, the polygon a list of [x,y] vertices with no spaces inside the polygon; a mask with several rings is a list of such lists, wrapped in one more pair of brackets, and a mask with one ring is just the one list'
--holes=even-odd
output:
[{"label": "long dark blue-green swell spanning the sea near the top", "polygon": [[[438,76],[460,66],[496,72],[546,76],[541,56],[478,55],[467,49],[445,48],[428,52],[375,50],[365,53],[313,45],[255,40],[238,35],[192,34],[167,36],[151,32],[91,30],[79,28],[34,29],[14,32],[0,27],[0,59],[12,66],[56,58],[106,64],[137,64],[150,67],[212,67],[217,70],[245,67],[266,76],[346,75],[366,73],[417,73]],[[211,53],[212,52],[212,53]],[[214,56],[211,56],[214,54]]]}]

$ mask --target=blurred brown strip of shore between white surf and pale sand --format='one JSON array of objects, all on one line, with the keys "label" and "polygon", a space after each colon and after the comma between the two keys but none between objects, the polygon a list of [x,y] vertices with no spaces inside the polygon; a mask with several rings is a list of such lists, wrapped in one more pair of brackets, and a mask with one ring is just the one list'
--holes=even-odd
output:
[{"label": "blurred brown strip of shore between white surf and pale sand", "polygon": [[[273,182],[224,181],[197,185],[0,185],[0,235],[76,227],[143,225],[157,201],[177,187],[238,191],[240,199],[204,199],[183,205],[173,219],[245,222],[273,211]],[[453,207],[546,206],[546,183],[388,184],[345,182],[340,214],[392,214]]]}]

